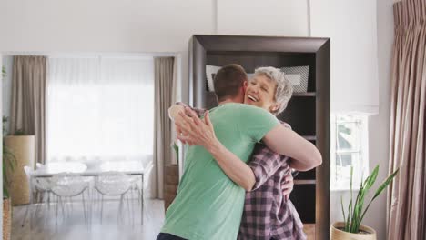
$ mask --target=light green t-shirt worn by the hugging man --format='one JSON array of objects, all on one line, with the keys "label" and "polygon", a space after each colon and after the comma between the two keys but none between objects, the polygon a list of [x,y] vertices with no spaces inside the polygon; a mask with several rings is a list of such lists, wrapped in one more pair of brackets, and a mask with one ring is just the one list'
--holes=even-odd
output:
[{"label": "light green t-shirt worn by the hugging man", "polygon": [[[279,121],[251,105],[229,103],[209,111],[218,140],[247,162],[253,148]],[[189,146],[177,196],[161,233],[190,240],[237,239],[245,190],[235,184],[208,151]]]}]

